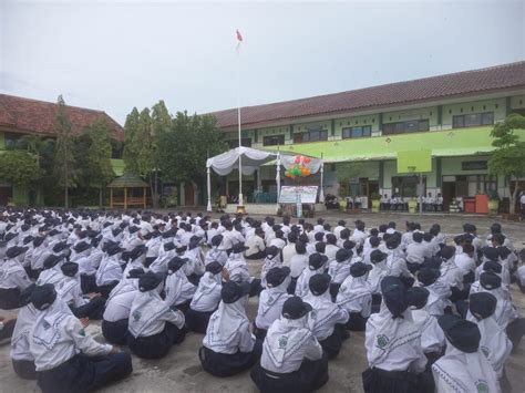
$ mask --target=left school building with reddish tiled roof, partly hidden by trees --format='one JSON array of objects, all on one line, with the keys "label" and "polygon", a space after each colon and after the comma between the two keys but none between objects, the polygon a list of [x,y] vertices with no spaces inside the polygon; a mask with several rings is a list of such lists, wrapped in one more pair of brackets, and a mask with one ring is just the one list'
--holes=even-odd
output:
[{"label": "left school building with reddish tiled roof, partly hidden by trees", "polygon": [[[18,146],[23,135],[40,135],[54,138],[54,120],[58,105],[51,102],[30,100],[13,95],[0,94],[0,154]],[[66,113],[73,133],[82,133],[84,128],[97,120],[104,120],[112,132],[115,142],[112,167],[120,176],[124,169],[119,145],[124,141],[124,130],[105,112],[66,105]],[[0,178],[0,205],[14,203],[17,205],[38,205],[38,193],[32,185],[21,187]]]}]

